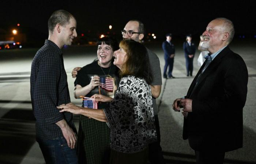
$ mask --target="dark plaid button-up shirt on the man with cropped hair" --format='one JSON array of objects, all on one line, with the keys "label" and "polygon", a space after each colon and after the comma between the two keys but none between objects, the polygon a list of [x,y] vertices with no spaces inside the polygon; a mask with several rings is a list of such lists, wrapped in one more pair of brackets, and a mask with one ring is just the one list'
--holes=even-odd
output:
[{"label": "dark plaid button-up shirt on the man with cropped hair", "polygon": [[56,106],[70,102],[67,74],[63,65],[60,48],[50,40],[45,40],[32,62],[30,75],[30,95],[36,118],[36,138],[49,140],[63,137],[55,123],[65,119],[76,132],[72,113],[60,113]]}]

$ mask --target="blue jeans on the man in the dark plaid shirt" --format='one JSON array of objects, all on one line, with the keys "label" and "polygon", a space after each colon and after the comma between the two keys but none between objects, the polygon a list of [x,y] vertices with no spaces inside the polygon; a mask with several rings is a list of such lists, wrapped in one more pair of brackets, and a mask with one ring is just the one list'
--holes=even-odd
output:
[{"label": "blue jeans on the man in the dark plaid shirt", "polygon": [[38,140],[37,142],[46,164],[78,164],[76,149],[69,148],[65,138],[57,137],[53,140]]}]

